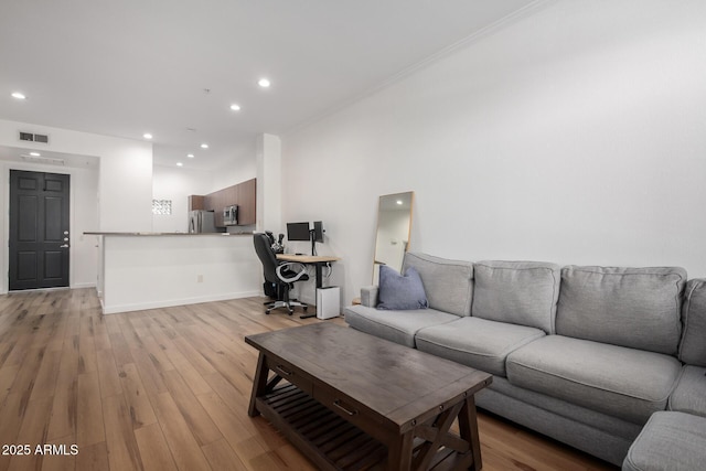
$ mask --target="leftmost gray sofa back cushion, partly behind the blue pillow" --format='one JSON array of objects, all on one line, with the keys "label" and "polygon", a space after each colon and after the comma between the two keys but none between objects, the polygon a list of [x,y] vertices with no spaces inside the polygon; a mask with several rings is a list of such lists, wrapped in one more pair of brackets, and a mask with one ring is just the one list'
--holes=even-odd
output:
[{"label": "leftmost gray sofa back cushion, partly behind the blue pillow", "polygon": [[403,272],[415,267],[429,300],[429,308],[470,315],[473,297],[473,264],[425,254],[405,254]]}]

